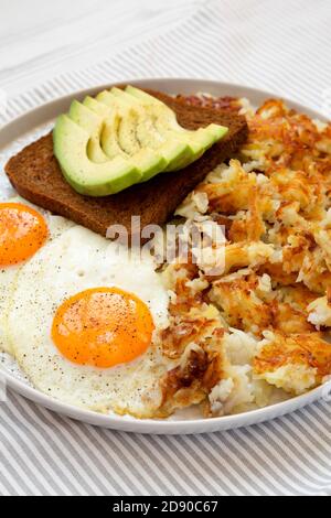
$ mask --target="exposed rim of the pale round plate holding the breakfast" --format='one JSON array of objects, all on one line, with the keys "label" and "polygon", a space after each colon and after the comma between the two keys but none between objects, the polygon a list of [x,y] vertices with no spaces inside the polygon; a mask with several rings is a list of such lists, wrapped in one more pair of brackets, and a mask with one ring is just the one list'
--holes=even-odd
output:
[{"label": "exposed rim of the pale round plate holding the breakfast", "polygon": [[[270,94],[254,88],[246,88],[237,85],[231,85],[218,82],[199,80],[199,79],[145,79],[145,80],[125,80],[124,83],[145,86],[156,90],[163,90],[169,94],[194,94],[196,91],[206,91],[216,96],[247,97],[253,105],[260,105],[266,98],[277,97],[277,94]],[[49,102],[40,108],[30,111],[22,117],[10,122],[0,130],[0,153],[6,147],[18,139],[26,138],[26,133],[36,132],[40,126],[47,125],[58,114],[67,110],[72,99],[83,99],[86,95],[96,95],[99,90],[109,88],[111,85],[100,85],[95,88],[76,91],[70,96]],[[288,105],[299,111],[303,111],[312,118],[323,120],[323,116],[316,111],[305,108],[291,100],[285,99]],[[28,386],[24,381],[14,377],[11,373],[1,369],[4,379],[15,392],[25,398],[42,404],[43,407],[68,416],[82,422],[104,427],[115,430],[122,430],[136,433],[152,434],[188,434],[215,432],[218,430],[229,430],[239,427],[247,427],[259,423],[286,413],[298,410],[313,401],[317,401],[328,393],[328,387],[319,387],[307,395],[290,399],[288,401],[274,404],[260,410],[245,412],[238,416],[229,416],[214,419],[170,419],[170,420],[136,420],[127,417],[103,416],[95,412],[82,410],[79,408],[63,404],[51,399],[49,396]]]}]

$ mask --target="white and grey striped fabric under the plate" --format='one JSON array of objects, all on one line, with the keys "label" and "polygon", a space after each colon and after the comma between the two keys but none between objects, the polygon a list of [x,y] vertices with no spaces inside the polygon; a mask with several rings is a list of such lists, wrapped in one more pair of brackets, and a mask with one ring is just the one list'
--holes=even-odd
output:
[{"label": "white and grey striped fabric under the plate", "polygon": [[[328,110],[330,19],[329,0],[200,2],[168,33],[11,99],[8,116],[147,76],[236,82]],[[249,429],[163,438],[94,429],[10,393],[0,404],[0,494],[331,495],[330,411],[321,401]]]}]

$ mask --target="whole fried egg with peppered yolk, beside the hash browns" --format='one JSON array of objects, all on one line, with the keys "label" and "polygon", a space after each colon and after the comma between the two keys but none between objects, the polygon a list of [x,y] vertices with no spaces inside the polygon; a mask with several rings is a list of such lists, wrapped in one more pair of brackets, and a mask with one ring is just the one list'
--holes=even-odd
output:
[{"label": "whole fried egg with peppered yolk, beside the hash browns", "polygon": [[152,417],[167,368],[156,336],[169,303],[154,270],[150,256],[128,256],[78,226],[32,257],[7,319],[13,356],[32,385],[89,410]]}]

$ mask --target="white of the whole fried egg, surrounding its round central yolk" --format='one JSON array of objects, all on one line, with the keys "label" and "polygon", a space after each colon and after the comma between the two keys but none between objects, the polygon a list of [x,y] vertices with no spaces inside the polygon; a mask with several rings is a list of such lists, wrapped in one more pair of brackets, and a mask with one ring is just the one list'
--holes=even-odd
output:
[{"label": "white of the whole fried egg, surrounding its round central yolk", "polygon": [[65,403],[99,412],[152,417],[166,371],[159,347],[110,369],[72,364],[51,338],[63,301],[90,288],[117,287],[150,309],[156,333],[168,325],[169,296],[151,258],[130,258],[105,238],[74,226],[44,247],[18,273],[7,328],[11,350],[33,386]]}]

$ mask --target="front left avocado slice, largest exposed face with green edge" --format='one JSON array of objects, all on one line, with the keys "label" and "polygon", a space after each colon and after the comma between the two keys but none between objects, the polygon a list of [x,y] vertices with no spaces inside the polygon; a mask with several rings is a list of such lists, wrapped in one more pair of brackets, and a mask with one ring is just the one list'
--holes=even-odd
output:
[{"label": "front left avocado slice, largest exposed face with green edge", "polygon": [[92,162],[87,154],[89,140],[89,132],[68,116],[57,118],[53,130],[54,154],[75,191],[89,196],[107,196],[140,182],[141,172],[122,157],[105,163]]}]

